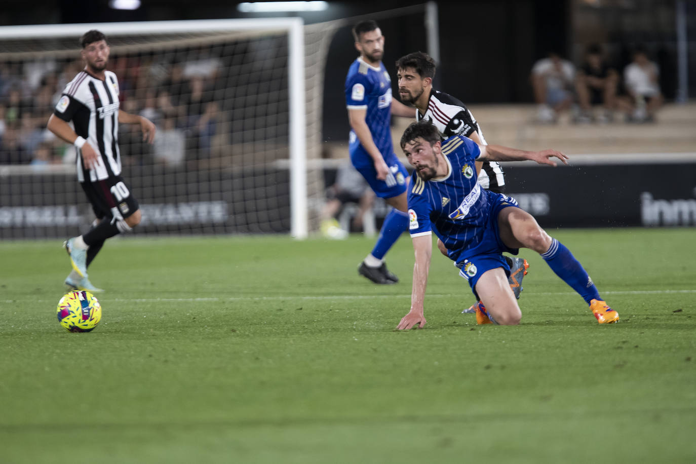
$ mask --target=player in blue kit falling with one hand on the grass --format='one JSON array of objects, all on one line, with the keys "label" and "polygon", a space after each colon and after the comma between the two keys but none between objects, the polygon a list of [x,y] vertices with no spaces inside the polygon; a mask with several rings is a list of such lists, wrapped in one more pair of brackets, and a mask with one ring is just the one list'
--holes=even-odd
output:
[{"label": "player in blue kit falling with one hand on the grass", "polygon": [[590,305],[599,323],[619,320],[599,296],[592,279],[571,252],[539,227],[516,200],[493,193],[477,183],[475,161],[536,161],[555,166],[552,157],[567,163],[555,150],[526,152],[477,145],[470,138],[452,136],[441,142],[429,121],[413,122],[404,131],[401,147],[415,168],[409,191],[409,231],[416,265],[413,267],[411,310],[400,330],[425,326],[423,303],[432,256],[432,232],[443,241],[448,256],[459,267],[481,301],[478,323],[518,324],[522,314],[507,278],[509,266],[502,253],[516,255],[530,248]]}]

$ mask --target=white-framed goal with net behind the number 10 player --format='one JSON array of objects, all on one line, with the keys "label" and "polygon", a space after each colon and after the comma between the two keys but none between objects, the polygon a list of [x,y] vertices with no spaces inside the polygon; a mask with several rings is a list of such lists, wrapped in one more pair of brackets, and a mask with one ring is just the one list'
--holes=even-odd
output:
[{"label": "white-framed goal with net behind the number 10 player", "polygon": [[308,195],[324,193],[306,133],[320,127],[306,118],[303,26],[289,18],[0,28],[0,239],[67,237],[93,221],[74,148],[45,129],[84,67],[89,29],[109,40],[120,108],[157,125],[154,145],[138,125],[118,134],[136,234],[306,236]]}]

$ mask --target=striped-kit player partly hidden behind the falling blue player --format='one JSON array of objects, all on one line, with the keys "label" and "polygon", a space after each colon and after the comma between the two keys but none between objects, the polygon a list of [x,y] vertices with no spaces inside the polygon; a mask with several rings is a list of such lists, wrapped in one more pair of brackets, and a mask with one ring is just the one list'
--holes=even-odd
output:
[{"label": "striped-kit player partly hidden behind the falling blue player", "polygon": [[[486,145],[481,128],[471,111],[458,99],[432,87],[436,65],[433,58],[416,51],[402,56],[396,62],[399,95],[404,102],[416,106],[416,120],[432,122],[437,127],[442,138],[454,135],[466,136],[479,145]],[[484,161],[476,163],[478,183],[482,188],[493,193],[505,193],[505,175],[500,163]],[[438,248],[447,256],[447,250],[442,241],[438,240]],[[529,264],[526,259],[506,256],[511,269],[509,284],[515,295],[520,297],[522,278],[527,274]],[[475,312],[477,303],[462,312]]]}]

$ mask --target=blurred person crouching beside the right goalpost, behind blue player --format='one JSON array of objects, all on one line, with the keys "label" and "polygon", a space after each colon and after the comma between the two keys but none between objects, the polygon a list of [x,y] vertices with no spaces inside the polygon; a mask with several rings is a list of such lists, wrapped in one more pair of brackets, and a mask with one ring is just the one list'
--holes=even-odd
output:
[{"label": "blurred person crouching beside the right goalpost, behind blue player", "polygon": [[363,227],[365,213],[372,209],[374,193],[349,160],[344,161],[336,171],[335,183],[326,191],[328,201],[322,209],[321,230],[324,237],[329,239],[345,239],[347,230],[343,230],[336,217],[347,203],[356,203],[358,212],[353,216],[352,225],[356,229]]}]

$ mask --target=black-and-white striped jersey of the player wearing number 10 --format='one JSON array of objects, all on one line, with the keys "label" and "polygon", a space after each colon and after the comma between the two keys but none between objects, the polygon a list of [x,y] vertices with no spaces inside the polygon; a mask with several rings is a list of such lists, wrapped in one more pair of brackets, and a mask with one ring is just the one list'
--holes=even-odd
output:
[{"label": "black-and-white striped jersey of the player wearing number 10", "polygon": [[120,175],[121,157],[118,151],[118,79],[104,71],[104,80],[81,71],[63,90],[54,114],[65,122],[72,121],[75,133],[101,155],[91,170],[82,164],[77,150],[77,180],[95,182]]}]

